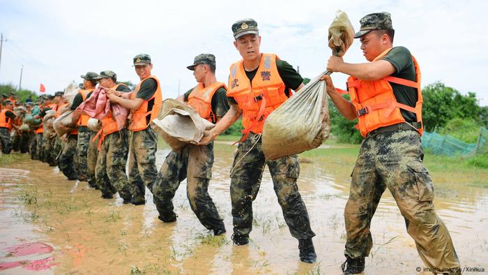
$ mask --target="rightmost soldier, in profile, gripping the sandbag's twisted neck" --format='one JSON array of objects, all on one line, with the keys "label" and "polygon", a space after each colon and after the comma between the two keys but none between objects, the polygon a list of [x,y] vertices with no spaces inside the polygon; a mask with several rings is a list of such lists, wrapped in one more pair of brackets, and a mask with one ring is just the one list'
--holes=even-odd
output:
[{"label": "rightmost soldier, in profile, gripping the sandbag's twisted neck", "polygon": [[434,189],[424,168],[420,68],[406,47],[393,47],[390,13],[360,20],[361,50],[369,61],[348,64],[330,57],[327,69],[351,75],[351,102],[337,93],[330,77],[327,92],[347,119],[358,117],[365,137],[352,173],[346,221],[344,274],[365,268],[373,241],[369,226],[381,194],[388,187],[405,218],[422,261],[440,273],[461,273],[448,228],[434,210]]}]

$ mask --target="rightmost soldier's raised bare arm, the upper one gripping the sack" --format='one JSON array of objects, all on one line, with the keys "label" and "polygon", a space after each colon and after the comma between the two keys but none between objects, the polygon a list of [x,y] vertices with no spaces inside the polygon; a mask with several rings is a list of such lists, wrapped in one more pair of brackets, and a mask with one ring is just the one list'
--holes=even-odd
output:
[{"label": "rightmost soldier's raised bare arm, the upper one gripping the sack", "polygon": [[327,62],[327,70],[352,75],[360,80],[380,80],[383,77],[392,75],[397,69],[386,60],[351,64],[344,62],[342,57],[330,57]]}]

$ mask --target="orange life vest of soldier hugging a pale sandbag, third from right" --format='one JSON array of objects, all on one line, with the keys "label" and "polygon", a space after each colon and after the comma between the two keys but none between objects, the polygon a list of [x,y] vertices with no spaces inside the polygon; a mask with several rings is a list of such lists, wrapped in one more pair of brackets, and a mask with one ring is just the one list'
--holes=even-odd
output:
[{"label": "orange life vest of soldier hugging a pale sandbag, third from right", "polygon": [[217,117],[215,117],[215,114],[212,112],[212,98],[215,91],[220,89],[220,87],[227,89],[222,82],[215,82],[208,87],[204,87],[204,84],[199,83],[193,88],[190,96],[188,96],[188,105],[197,110],[200,117],[212,123],[217,121]]}]

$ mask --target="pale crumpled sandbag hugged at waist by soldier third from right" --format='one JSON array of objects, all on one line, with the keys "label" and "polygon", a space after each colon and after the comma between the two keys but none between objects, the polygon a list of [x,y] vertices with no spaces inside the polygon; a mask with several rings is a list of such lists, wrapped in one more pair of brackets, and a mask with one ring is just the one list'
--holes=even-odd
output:
[{"label": "pale crumpled sandbag hugged at waist by soldier third from right", "polygon": [[171,98],[162,102],[159,117],[151,122],[154,131],[174,151],[190,142],[199,142],[204,131],[214,126],[215,124],[202,119],[192,107]]}]

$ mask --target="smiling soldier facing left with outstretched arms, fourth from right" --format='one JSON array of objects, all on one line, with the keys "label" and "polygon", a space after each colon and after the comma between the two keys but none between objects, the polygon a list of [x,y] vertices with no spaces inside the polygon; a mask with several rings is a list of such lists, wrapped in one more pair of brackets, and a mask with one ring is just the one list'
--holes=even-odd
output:
[{"label": "smiling soldier facing left with outstretched arms, fourth from right", "polygon": [[132,187],[132,204],[144,205],[144,185],[152,192],[158,174],[156,150],[158,135],[149,126],[161,109],[162,94],[159,80],[151,75],[153,64],[148,54],[137,54],[134,59],[135,72],[141,82],[130,94],[110,89],[110,101],[130,110],[129,133],[129,184]]}]

